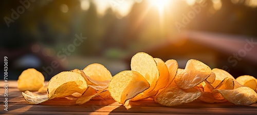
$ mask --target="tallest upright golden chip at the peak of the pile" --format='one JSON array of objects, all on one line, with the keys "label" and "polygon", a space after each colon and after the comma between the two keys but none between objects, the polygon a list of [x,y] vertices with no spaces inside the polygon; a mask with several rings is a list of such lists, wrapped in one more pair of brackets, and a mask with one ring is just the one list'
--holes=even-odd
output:
[{"label": "tallest upright golden chip at the peak of the pile", "polygon": [[154,90],[159,79],[159,70],[151,55],[144,52],[135,54],[131,59],[131,70],[139,72],[149,82],[150,88],[144,93]]}]

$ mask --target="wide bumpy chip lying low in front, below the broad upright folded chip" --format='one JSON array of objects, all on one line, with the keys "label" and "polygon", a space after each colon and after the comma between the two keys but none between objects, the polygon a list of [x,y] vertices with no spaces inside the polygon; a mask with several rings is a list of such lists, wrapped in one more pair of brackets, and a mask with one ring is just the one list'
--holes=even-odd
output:
[{"label": "wide bumpy chip lying low in front, below the broad upright folded chip", "polygon": [[176,106],[189,103],[200,97],[201,92],[195,88],[180,89],[172,83],[157,95],[156,101],[165,106]]}]

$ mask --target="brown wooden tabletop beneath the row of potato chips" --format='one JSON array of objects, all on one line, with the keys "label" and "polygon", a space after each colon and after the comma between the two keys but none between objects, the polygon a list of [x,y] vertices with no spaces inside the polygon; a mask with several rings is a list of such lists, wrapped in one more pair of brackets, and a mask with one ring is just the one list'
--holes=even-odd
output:
[{"label": "brown wooden tabletop beneath the row of potato chips", "polygon": [[198,100],[180,106],[166,107],[152,99],[127,101],[124,106],[113,99],[91,100],[76,105],[76,98],[53,99],[39,105],[30,105],[17,89],[16,81],[8,81],[8,111],[4,110],[4,82],[0,81],[0,114],[257,114],[257,103],[251,106],[235,106],[229,102],[209,104]]}]

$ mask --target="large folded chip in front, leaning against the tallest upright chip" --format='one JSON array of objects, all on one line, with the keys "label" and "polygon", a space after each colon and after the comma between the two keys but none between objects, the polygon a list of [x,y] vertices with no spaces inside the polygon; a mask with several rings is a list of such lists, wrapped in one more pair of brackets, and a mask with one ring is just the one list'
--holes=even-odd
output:
[{"label": "large folded chip in front, leaning against the tallest upright chip", "polygon": [[124,104],[126,100],[148,89],[150,84],[136,71],[125,70],[113,76],[108,90],[115,101]]}]

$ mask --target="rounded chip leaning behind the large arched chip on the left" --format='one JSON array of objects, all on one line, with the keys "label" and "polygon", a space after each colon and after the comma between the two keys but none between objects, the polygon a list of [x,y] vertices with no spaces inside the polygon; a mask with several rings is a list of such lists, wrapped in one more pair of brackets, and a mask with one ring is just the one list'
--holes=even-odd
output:
[{"label": "rounded chip leaning behind the large arched chip on the left", "polygon": [[97,86],[107,86],[112,79],[112,74],[103,65],[94,63],[83,69],[87,79]]}]

